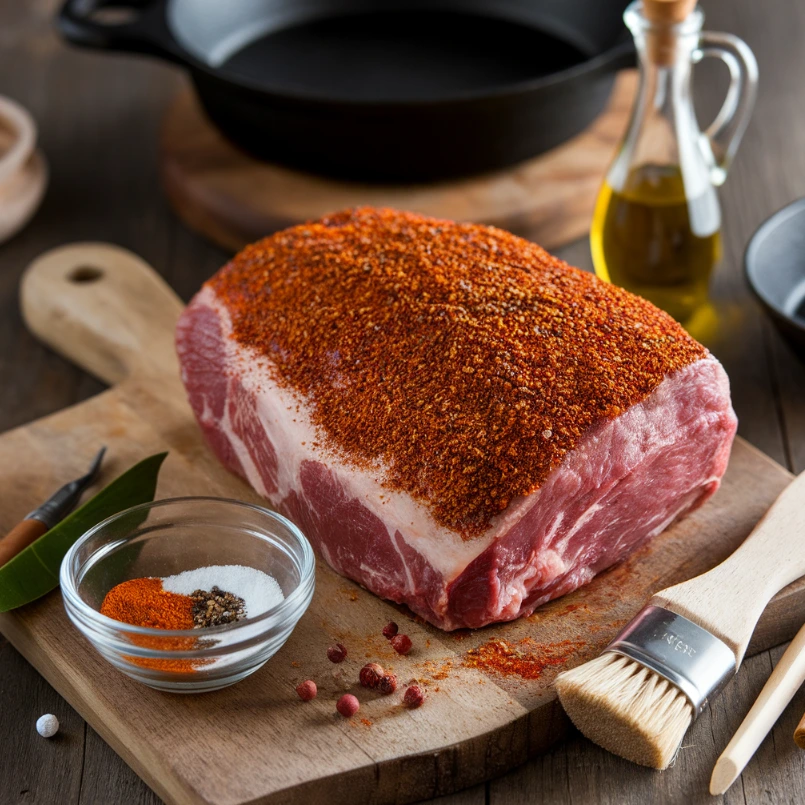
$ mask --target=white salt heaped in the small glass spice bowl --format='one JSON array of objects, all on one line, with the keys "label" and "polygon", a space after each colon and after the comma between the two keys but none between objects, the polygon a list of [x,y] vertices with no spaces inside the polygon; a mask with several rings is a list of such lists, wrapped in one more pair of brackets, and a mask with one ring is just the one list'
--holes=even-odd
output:
[{"label": "white salt heaped in the small glass spice bowl", "polygon": [[213,587],[242,598],[247,618],[262,615],[285,598],[273,576],[245,565],[210,565],[162,579],[162,589],[177,595],[211,592]]}]

